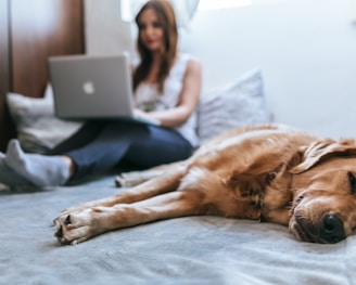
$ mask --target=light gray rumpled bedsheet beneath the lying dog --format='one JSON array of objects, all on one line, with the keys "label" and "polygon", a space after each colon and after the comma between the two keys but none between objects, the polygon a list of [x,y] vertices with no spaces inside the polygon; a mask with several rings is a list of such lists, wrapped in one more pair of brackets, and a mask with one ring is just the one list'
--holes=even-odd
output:
[{"label": "light gray rumpled bedsheet beneath the lying dog", "polygon": [[354,284],[355,234],[318,245],[296,242],[277,224],[191,217],[59,245],[52,219],[122,191],[113,181],[0,191],[0,284]]}]

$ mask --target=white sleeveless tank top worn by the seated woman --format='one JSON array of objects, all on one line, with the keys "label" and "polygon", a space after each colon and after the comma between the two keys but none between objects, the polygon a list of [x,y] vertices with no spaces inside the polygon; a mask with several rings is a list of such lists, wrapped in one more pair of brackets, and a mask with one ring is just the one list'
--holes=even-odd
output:
[{"label": "white sleeveless tank top worn by the seated woman", "polygon": [[[135,104],[137,108],[144,112],[164,111],[174,108],[179,103],[185,74],[190,55],[179,53],[168,77],[164,82],[163,94],[160,94],[157,85],[141,82],[135,92]],[[199,145],[196,134],[196,111],[189,119],[175,128],[192,146]]]}]

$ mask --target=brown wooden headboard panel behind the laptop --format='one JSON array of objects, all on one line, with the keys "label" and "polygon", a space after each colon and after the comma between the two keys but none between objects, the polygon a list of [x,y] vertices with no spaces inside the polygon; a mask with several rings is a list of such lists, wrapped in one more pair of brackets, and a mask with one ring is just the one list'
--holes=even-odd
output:
[{"label": "brown wooden headboard panel behind the laptop", "polygon": [[85,52],[82,1],[0,0],[0,151],[16,135],[7,93],[42,96],[47,57]]}]

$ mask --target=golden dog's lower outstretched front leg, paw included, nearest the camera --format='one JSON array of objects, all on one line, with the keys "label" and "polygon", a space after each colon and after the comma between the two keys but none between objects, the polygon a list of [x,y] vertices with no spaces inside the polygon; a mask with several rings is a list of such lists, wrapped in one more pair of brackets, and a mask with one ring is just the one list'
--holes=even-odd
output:
[{"label": "golden dog's lower outstretched front leg, paw included, nearest the camera", "polygon": [[77,244],[116,229],[200,213],[199,193],[178,191],[134,204],[97,206],[61,216],[55,221],[55,236],[61,244]]}]

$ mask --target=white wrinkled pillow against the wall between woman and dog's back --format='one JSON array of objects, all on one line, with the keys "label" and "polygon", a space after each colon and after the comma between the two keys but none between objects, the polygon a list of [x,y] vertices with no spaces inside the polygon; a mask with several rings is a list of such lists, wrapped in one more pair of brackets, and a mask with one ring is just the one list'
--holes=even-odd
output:
[{"label": "white wrinkled pillow against the wall between woman and dog's back", "polygon": [[253,69],[232,85],[202,94],[198,133],[204,141],[237,127],[268,120],[262,72]]}]

